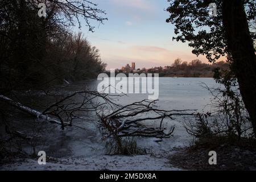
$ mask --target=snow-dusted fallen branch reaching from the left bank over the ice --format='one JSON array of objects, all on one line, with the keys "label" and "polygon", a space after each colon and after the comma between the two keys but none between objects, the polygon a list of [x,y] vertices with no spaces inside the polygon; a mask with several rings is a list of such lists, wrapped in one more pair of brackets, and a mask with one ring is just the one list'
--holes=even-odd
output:
[{"label": "snow-dusted fallen branch reaching from the left bank over the ice", "polygon": [[[47,94],[50,95],[51,93]],[[77,96],[81,98],[80,101],[75,100],[75,97]],[[106,108],[106,105],[108,105],[109,109],[113,109],[114,107],[121,107],[120,105],[114,103],[112,98],[114,96],[117,95],[98,93],[90,90],[82,90],[63,96],[63,98],[49,105],[42,112],[31,109],[28,106],[24,106],[20,102],[14,101],[6,96],[0,95],[0,100],[5,101],[11,106],[14,106],[16,109],[32,115],[32,117],[60,124],[62,129],[64,129],[65,126],[72,126],[74,119],[83,119],[79,116],[79,113],[81,112],[97,112],[98,110],[102,110],[102,108]],[[49,115],[52,117],[49,117]]]}]

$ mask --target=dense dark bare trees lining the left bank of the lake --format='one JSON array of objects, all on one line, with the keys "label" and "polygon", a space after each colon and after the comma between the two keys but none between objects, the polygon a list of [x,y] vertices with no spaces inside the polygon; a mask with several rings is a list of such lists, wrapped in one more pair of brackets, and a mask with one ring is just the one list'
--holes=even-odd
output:
[{"label": "dense dark bare trees lining the left bank of the lake", "polygon": [[83,80],[105,69],[98,49],[71,31],[81,10],[47,2],[40,18],[37,1],[0,1],[0,92]]}]

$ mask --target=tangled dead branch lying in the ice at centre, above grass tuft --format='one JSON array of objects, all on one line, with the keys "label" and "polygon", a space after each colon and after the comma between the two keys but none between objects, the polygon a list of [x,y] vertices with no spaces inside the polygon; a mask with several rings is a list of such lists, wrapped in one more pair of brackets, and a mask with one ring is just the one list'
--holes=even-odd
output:
[{"label": "tangled dead branch lying in the ice at centre, above grass tuft", "polygon": [[[105,129],[105,135],[109,137],[170,138],[174,127],[167,132],[167,129],[162,127],[165,118],[173,119],[178,115],[194,115],[194,113],[187,113],[192,110],[159,110],[152,106],[155,102],[148,100],[134,102],[122,106],[108,115],[98,115],[100,117],[99,125]],[[146,117],[155,114],[154,117]],[[159,126],[157,126],[159,119]],[[156,126],[148,127],[146,123],[142,123],[144,121],[154,121]]]}]

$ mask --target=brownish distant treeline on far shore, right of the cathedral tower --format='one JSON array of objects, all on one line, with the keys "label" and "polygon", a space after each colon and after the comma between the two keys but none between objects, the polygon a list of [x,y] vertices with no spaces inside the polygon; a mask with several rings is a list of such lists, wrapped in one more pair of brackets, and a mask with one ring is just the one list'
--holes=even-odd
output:
[{"label": "brownish distant treeline on far shore, right of the cathedral tower", "polygon": [[206,64],[198,59],[187,63],[187,61],[176,59],[171,66],[142,69],[138,73],[159,73],[160,77],[213,77],[213,70],[216,68],[229,70],[229,64],[225,61]]}]

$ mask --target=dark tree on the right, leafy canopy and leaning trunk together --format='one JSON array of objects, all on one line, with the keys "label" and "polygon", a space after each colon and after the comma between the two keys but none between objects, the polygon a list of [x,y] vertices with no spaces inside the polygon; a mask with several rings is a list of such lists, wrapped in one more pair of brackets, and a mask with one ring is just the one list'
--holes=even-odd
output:
[{"label": "dark tree on the right, leafy canopy and leaning trunk together", "polygon": [[[168,1],[167,23],[175,24],[177,35],[173,39],[188,41],[192,53],[206,55],[210,62],[227,55],[256,135],[256,34],[249,27],[255,24],[255,1]],[[216,3],[217,16],[209,16],[210,3]]]}]

